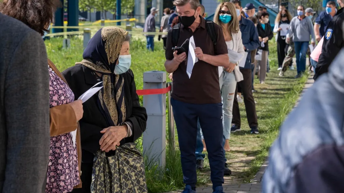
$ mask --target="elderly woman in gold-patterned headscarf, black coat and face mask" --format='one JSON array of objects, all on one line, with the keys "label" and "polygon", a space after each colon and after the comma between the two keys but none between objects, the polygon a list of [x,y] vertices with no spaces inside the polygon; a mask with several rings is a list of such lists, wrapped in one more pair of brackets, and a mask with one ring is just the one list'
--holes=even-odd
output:
[{"label": "elderly woman in gold-patterned headscarf, black coat and face mask", "polygon": [[146,129],[147,113],[136,94],[134,74],[129,69],[130,36],[118,27],[101,28],[89,41],[81,62],[63,72],[78,98],[98,82],[104,87],[84,102],[79,121],[82,145],[82,189],[90,192],[95,154],[111,155],[116,145],[134,142]]}]

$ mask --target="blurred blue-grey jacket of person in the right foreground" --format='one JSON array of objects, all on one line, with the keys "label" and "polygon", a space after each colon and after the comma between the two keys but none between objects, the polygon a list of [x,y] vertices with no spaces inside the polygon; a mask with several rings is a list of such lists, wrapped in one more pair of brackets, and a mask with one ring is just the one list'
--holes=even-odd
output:
[{"label": "blurred blue-grey jacket of person in the right foreground", "polygon": [[344,190],[344,49],[304,93],[269,153],[263,193]]}]

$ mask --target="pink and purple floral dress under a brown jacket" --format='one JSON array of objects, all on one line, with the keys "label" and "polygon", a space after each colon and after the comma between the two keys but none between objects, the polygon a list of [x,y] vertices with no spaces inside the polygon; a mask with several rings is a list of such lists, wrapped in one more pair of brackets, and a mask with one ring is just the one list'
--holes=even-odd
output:
[{"label": "pink and purple floral dress under a brown jacket", "polygon": [[[50,108],[74,101],[68,85],[49,68]],[[75,128],[76,129],[76,128]],[[71,192],[80,183],[76,144],[71,133],[50,137],[50,155],[46,182],[46,193]]]}]

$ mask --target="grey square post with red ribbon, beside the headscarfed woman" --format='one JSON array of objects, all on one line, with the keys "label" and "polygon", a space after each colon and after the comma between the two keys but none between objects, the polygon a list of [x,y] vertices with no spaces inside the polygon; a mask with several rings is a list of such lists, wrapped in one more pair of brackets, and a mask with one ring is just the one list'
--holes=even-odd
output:
[{"label": "grey square post with red ribbon, beside the headscarfed woman", "polygon": [[[166,88],[166,72],[143,73],[143,89]],[[166,164],[166,94],[144,95],[143,106],[147,110],[147,129],[143,133],[143,154],[150,161]]]}]

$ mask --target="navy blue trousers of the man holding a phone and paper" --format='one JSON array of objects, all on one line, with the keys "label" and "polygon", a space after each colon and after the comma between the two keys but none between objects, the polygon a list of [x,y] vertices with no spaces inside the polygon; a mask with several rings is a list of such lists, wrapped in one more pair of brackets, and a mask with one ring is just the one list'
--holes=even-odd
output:
[{"label": "navy blue trousers of the man holding a phone and paper", "polygon": [[194,187],[197,182],[195,148],[199,119],[207,144],[213,189],[222,186],[225,167],[222,147],[222,103],[190,104],[171,99],[171,104],[178,132],[184,183]]}]

